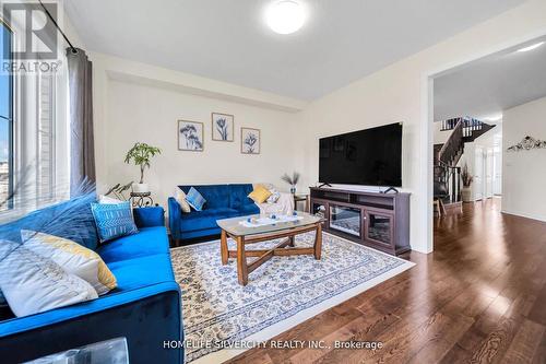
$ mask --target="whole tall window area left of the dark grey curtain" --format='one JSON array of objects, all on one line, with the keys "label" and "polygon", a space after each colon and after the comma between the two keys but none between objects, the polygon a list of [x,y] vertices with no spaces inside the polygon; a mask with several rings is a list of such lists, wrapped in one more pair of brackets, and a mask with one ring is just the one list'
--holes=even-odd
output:
[{"label": "whole tall window area left of the dark grey curtain", "polygon": [[[12,59],[12,49],[24,49],[27,33],[24,22],[11,21],[8,26],[0,19],[0,224],[66,200],[70,191],[63,44],[58,43],[57,60],[29,60],[55,61],[58,68],[20,67],[25,59]],[[4,64],[16,71],[3,72]]]}]

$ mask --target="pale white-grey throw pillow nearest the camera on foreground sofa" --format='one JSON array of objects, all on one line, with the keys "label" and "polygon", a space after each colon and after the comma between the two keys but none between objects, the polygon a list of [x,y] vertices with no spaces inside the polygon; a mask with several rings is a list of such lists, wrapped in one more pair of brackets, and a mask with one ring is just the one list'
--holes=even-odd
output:
[{"label": "pale white-grey throw pillow nearest the camera on foreground sofa", "polygon": [[17,317],[97,298],[90,283],[24,245],[0,242],[0,287]]}]

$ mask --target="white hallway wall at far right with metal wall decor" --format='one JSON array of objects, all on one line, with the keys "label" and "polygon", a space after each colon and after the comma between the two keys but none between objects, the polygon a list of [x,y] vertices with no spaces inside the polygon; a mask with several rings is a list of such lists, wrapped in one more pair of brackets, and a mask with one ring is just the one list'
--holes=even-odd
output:
[{"label": "white hallway wall at far right with metal wall decor", "polygon": [[546,221],[546,150],[507,152],[526,136],[546,140],[546,97],[502,114],[502,211]]}]

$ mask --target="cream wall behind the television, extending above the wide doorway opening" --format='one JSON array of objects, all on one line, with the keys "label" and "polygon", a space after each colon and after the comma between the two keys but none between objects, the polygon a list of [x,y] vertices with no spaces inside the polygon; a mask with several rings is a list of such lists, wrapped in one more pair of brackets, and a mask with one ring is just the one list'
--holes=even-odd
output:
[{"label": "cream wall behind the television, extending above the wide doorway opening", "polygon": [[299,164],[306,183],[318,179],[318,139],[404,122],[403,189],[412,192],[411,245],[432,249],[431,89],[427,77],[546,33],[546,1],[527,1],[446,42],[333,92],[302,111]]}]

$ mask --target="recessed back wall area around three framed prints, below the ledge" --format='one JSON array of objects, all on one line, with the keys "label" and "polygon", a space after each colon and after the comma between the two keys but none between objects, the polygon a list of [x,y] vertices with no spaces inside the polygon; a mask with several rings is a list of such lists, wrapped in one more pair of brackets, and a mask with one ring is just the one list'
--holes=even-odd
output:
[{"label": "recessed back wall area around three framed prints, below the ledge", "polygon": [[[292,113],[264,109],[210,97],[188,95],[161,87],[123,81],[108,81],[106,136],[107,160],[102,164],[108,186],[138,181],[139,168],[123,163],[124,154],[138,141],[162,149],[152,168],[145,172],[154,200],[166,206],[175,187],[183,184],[225,184],[268,181],[285,188],[283,173],[295,168]],[[235,141],[212,140],[211,113],[235,115]],[[179,151],[177,120],[204,124],[204,151]],[[261,130],[261,153],[240,153],[240,128]]]}]

